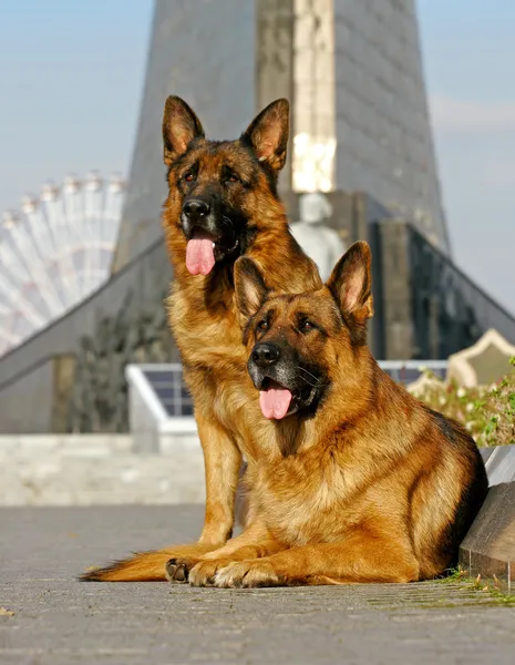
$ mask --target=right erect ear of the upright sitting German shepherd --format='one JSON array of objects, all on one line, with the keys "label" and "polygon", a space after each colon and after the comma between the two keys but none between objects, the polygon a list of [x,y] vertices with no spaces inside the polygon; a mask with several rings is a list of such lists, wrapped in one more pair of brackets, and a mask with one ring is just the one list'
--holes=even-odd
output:
[{"label": "right erect ear of the upright sitting German shepherd", "polygon": [[260,162],[280,171],[286,163],[290,104],[288,100],[276,100],[269,104],[241,135],[250,143]]}]

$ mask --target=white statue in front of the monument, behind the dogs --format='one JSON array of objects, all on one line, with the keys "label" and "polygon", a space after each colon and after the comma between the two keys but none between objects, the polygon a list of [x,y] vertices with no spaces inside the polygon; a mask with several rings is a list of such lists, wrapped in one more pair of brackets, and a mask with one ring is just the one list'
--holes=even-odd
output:
[{"label": "white statue in front of the monument, behind the dogs", "polygon": [[291,233],[326,282],[346,250],[338,233],[325,224],[332,214],[332,206],[327,196],[313,192],[299,197],[299,213],[300,221],[291,225]]}]

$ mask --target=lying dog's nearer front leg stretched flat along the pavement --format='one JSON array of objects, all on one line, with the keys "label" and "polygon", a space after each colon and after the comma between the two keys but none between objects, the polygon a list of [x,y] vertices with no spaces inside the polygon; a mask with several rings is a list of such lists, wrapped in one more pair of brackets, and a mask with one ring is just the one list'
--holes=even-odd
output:
[{"label": "lying dog's nearer front leg stretched flat along the pavement", "polygon": [[291,548],[264,559],[229,563],[218,570],[214,585],[295,586],[418,579],[419,565],[409,544],[363,531],[341,543]]}]

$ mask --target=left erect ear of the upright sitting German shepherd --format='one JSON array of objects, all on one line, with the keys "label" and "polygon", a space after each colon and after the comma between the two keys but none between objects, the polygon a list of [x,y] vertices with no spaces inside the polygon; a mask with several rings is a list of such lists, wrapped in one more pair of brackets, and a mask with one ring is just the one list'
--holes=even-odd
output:
[{"label": "left erect ear of the upright sitting German shepherd", "polygon": [[171,95],[163,115],[164,163],[169,166],[194,139],[204,139],[200,121],[178,96]]}]

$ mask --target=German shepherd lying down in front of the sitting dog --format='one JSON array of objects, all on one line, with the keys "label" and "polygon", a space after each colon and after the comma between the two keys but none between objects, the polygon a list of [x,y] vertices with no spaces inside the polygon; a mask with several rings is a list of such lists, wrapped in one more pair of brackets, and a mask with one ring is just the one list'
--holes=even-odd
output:
[{"label": "German shepherd lying down in front of the sitting dog", "polygon": [[456,562],[486,497],[484,464],[464,429],[396,385],[368,349],[370,258],[356,243],[323,288],[302,295],[269,291],[250,258],[236,262],[262,411],[247,470],[256,518],[222,550],[168,562],[174,580],[413,582]]}]

